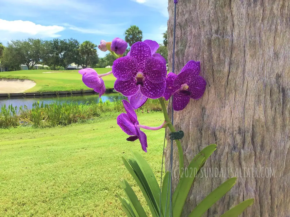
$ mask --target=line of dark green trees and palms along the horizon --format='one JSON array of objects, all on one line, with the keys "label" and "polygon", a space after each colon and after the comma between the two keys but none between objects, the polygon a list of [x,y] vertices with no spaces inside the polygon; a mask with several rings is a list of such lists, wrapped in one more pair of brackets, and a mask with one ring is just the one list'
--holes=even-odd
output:
[{"label": "line of dark green trees and palms along the horizon", "polygon": [[[136,25],[132,25],[125,32],[125,41],[131,46],[137,41],[142,41],[142,31]],[[167,31],[163,34],[164,44],[160,44],[157,53],[160,53],[167,61]],[[129,48],[124,55],[127,55]],[[75,63],[82,68],[102,68],[112,66],[115,58],[110,53],[99,58],[97,45],[91,41],[80,43],[77,39],[42,40],[41,38],[28,38],[15,40],[3,46],[0,43],[1,66],[9,71],[19,70],[20,65],[26,65],[33,69],[36,64],[49,66],[50,70],[64,70]]]}]

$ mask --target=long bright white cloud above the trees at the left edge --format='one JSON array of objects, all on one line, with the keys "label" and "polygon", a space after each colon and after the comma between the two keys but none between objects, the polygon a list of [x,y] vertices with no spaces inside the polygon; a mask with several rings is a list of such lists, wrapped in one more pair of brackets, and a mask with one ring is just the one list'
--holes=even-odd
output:
[{"label": "long bright white cloud above the trees at the left edge", "polygon": [[10,33],[26,33],[32,36],[41,36],[41,37],[59,37],[58,32],[63,31],[65,28],[62,26],[43,26],[35,24],[31,21],[8,21],[0,19],[0,30],[10,32]]}]

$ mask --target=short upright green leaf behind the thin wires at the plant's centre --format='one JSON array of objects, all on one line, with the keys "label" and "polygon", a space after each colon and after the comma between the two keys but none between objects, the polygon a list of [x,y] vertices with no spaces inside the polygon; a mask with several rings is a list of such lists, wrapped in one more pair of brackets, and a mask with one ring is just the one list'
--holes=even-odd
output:
[{"label": "short upright green leaf behind the thin wires at the plant's centre", "polygon": [[[162,192],[161,192],[161,210],[164,217],[169,216],[170,208],[170,172],[166,172],[164,175],[162,183]],[[165,215],[166,214],[166,215]]]}]

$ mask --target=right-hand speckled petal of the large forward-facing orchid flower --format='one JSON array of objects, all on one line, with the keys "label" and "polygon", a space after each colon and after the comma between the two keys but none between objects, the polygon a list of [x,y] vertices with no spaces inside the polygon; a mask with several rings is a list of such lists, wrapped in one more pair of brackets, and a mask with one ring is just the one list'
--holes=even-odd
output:
[{"label": "right-hand speckled petal of the large forward-facing orchid flower", "polygon": [[154,57],[149,57],[145,63],[144,76],[153,83],[160,83],[166,79],[166,65]]}]

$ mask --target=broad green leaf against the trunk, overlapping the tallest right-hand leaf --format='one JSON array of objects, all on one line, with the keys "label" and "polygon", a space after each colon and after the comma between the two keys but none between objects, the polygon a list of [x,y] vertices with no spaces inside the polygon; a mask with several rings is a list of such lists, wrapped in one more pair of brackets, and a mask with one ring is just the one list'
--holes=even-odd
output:
[{"label": "broad green leaf against the trunk, overlapping the tallest right-hand leaf", "polygon": [[195,161],[191,161],[191,163],[188,166],[189,171],[193,171],[190,176],[183,177],[181,180],[181,185],[179,187],[179,190],[176,195],[175,203],[173,205],[172,209],[172,216],[179,217],[181,216],[184,203],[186,201],[187,195],[189,193],[189,190],[191,188],[191,185],[196,177],[197,171],[202,166],[202,162],[204,160],[204,154],[198,154]]}]

